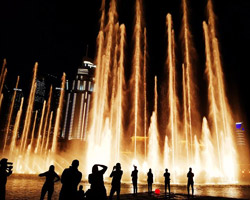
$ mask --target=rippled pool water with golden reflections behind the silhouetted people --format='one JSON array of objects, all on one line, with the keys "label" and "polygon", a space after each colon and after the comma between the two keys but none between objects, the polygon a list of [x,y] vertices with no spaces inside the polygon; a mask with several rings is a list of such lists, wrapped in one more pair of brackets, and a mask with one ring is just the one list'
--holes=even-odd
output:
[{"label": "rippled pool water with golden reflections behind the silhouetted people", "polygon": [[[8,178],[6,185],[6,200],[37,200],[40,199],[41,189],[44,184],[45,178],[38,177],[38,175],[22,175],[13,174]],[[87,181],[82,181],[80,185],[83,185],[83,190],[87,191],[90,186]],[[107,195],[110,192],[110,183],[105,182]],[[58,200],[59,192],[61,190],[61,183],[55,183],[55,190],[52,196],[52,200]],[[148,196],[147,185],[139,184],[139,194],[133,196],[133,188],[130,182],[122,183],[121,185],[121,200],[151,200],[151,199],[188,199],[187,186],[186,185],[171,185],[170,198],[164,196],[164,185],[154,184],[153,191],[155,189],[161,191],[160,195]],[[250,185],[195,185],[194,198],[190,199],[250,199]],[[47,197],[45,198],[47,199]],[[113,198],[116,200],[116,197]]]}]

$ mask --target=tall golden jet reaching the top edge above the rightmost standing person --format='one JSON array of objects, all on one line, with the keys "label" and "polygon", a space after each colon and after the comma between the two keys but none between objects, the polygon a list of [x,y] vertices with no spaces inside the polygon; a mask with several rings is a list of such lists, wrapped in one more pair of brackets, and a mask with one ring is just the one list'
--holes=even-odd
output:
[{"label": "tall golden jet reaching the top edge above the rightmost standing person", "polygon": [[[187,164],[192,163],[193,158],[193,135],[194,131],[199,132],[198,123],[200,121],[198,112],[197,112],[197,100],[196,100],[196,87],[194,84],[193,76],[193,63],[192,57],[196,54],[195,48],[192,41],[192,35],[190,33],[190,27],[188,22],[188,5],[187,0],[182,0],[182,46],[183,46],[183,56],[184,56],[184,66],[183,70],[185,71],[183,82],[183,90],[185,90],[184,100],[184,129],[188,137],[186,137],[186,142],[188,143],[187,149]],[[184,95],[184,94],[183,94]],[[198,122],[198,123],[197,123]],[[193,130],[194,129],[194,130]]]}]

